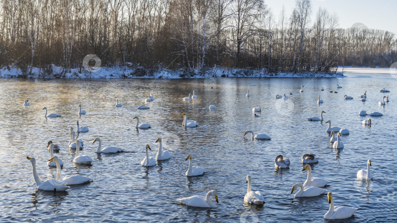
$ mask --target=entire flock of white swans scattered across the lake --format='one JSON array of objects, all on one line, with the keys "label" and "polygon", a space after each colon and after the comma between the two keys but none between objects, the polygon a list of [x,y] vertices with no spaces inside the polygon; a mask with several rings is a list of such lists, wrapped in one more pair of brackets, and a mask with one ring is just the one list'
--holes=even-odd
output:
[{"label": "entire flock of white swans scattered across the lake", "polygon": [[[249,83],[249,86],[255,86],[254,84]],[[337,85],[337,89],[341,89],[342,87]],[[320,89],[321,91],[324,91],[324,88]],[[303,92],[303,85],[300,86],[300,93]],[[337,93],[337,91],[330,91],[333,93]],[[387,89],[382,89],[380,92],[386,93],[390,92]],[[292,95],[292,93],[290,93]],[[250,96],[249,90],[246,94],[247,97]],[[182,98],[183,101],[190,101],[194,100],[197,98],[197,95],[195,94],[195,91],[193,90],[193,94],[189,94],[188,97]],[[364,92],[363,95],[360,95],[359,98],[362,101],[366,101],[367,99],[367,91]],[[284,99],[287,100],[288,96],[283,94],[283,96],[276,95],[276,99]],[[345,100],[351,100],[353,97],[351,96],[344,96]],[[149,94],[149,97],[145,99],[146,102],[151,102],[154,100],[154,97],[152,94]],[[379,105],[386,105],[386,103],[389,102],[389,96],[384,96],[383,101],[380,101],[378,104]],[[319,99],[317,101],[318,104],[323,103],[323,100],[321,99],[319,95]],[[25,100],[24,106],[30,106],[30,103],[28,100]],[[118,99],[116,99],[116,105],[115,107],[122,107],[122,103],[119,102]],[[138,107],[140,110],[145,110],[145,109],[150,109],[148,106],[141,105]],[[209,107],[210,110],[216,109],[215,105],[211,105]],[[55,118],[55,117],[60,117],[61,115],[57,113],[50,113],[48,114],[47,108],[44,107],[43,110],[46,110],[45,117],[49,118]],[[259,117],[257,112],[261,112],[260,107],[252,108],[252,112],[255,117]],[[307,118],[308,121],[323,121],[323,113],[322,111],[320,113],[320,117],[309,117]],[[81,114],[86,114],[84,110],[81,109],[81,105],[79,105],[79,115]],[[366,111],[361,111],[359,112],[359,115],[370,115],[370,116],[381,116],[383,115],[382,113],[379,112],[372,112],[370,114],[367,114]],[[182,126],[183,127],[198,127],[199,124],[194,121],[194,120],[188,120],[186,113],[182,114],[183,122]],[[135,116],[133,119],[136,119],[136,128],[137,129],[149,129],[151,127],[150,124],[143,123],[139,124],[139,117]],[[325,132],[331,134],[330,142],[333,143],[332,147],[335,149],[341,149],[344,148],[344,144],[341,140],[342,135],[344,134],[349,134],[349,131],[347,129],[342,129],[339,127],[331,126],[331,121],[328,120],[326,121],[328,123],[328,128],[325,130]],[[88,132],[88,128],[86,126],[81,126],[79,125],[79,122],[76,122],[77,124],[77,133],[80,132]],[[362,122],[363,125],[366,126],[371,126],[371,118],[368,118]],[[267,135],[267,134],[254,134],[253,131],[246,131],[244,135],[251,134],[252,140],[257,139],[257,140],[271,140],[272,138]],[[101,140],[99,137],[97,137],[93,143],[98,142],[98,148],[96,153],[120,153],[123,152],[122,148],[119,147],[107,147],[102,149],[101,147]],[[149,150],[150,146],[148,144],[145,145],[145,151],[146,151],[146,157],[144,157],[141,161],[141,165],[145,167],[149,166],[154,166],[156,165],[157,160],[166,160],[170,159],[171,155],[168,150],[163,150],[162,149],[162,139],[159,137],[157,141],[159,143],[159,148],[158,152],[155,157],[149,156]],[[69,141],[69,148],[75,150],[75,156],[74,156],[74,163],[75,164],[82,164],[82,165],[91,165],[91,162],[93,161],[89,156],[87,155],[80,155],[80,149],[84,146],[84,143],[81,139],[76,139],[75,138],[75,132],[74,128],[70,127],[70,141]],[[32,164],[32,169],[33,169],[33,178],[35,180],[37,189],[39,190],[44,190],[44,191],[66,191],[69,189],[70,185],[75,185],[75,184],[83,184],[92,181],[92,178],[81,176],[78,174],[75,175],[68,175],[64,178],[61,178],[61,168],[63,166],[62,160],[58,156],[54,156],[54,151],[58,150],[59,151],[59,146],[55,145],[52,143],[50,140],[47,144],[47,148],[50,152],[50,159],[47,162],[47,165],[50,167],[56,167],[56,178],[50,178],[45,181],[41,181],[40,177],[37,174],[36,171],[36,160],[34,157],[28,157],[26,158],[30,160]],[[185,175],[190,177],[190,176],[200,176],[204,174],[204,168],[199,167],[199,166],[193,166],[192,163],[192,155],[188,155],[185,160],[189,160],[189,167],[188,170],[186,171]],[[298,192],[294,195],[295,198],[297,197],[316,197],[320,196],[325,193],[325,187],[327,186],[328,180],[323,179],[323,178],[312,178],[311,175],[311,166],[309,164],[314,164],[319,162],[319,156],[316,156],[314,154],[303,154],[301,157],[301,162],[302,164],[306,164],[303,168],[302,171],[307,171],[307,178],[306,180],[302,183],[295,183],[292,186],[291,194],[294,193],[294,191],[298,190]],[[290,160],[289,158],[283,157],[282,155],[278,155],[274,159],[274,167],[276,169],[283,169],[283,168],[289,168],[290,165]],[[362,180],[370,180],[373,178],[371,171],[370,171],[370,166],[371,166],[371,160],[369,159],[367,161],[367,169],[362,169],[357,172],[357,178],[362,179]],[[251,176],[247,176],[246,182],[248,183],[248,189],[247,189],[247,194],[244,197],[244,202],[249,203],[249,204],[255,204],[255,205],[263,205],[264,203],[264,197],[261,192],[259,191],[252,191],[251,189]],[[217,205],[211,201],[211,196],[214,196],[215,201],[219,203],[218,201],[218,192],[216,190],[211,190],[209,191],[206,196],[199,196],[199,195],[194,195],[191,197],[187,198],[181,198],[181,199],[176,199],[176,201],[179,201],[180,203],[186,204],[188,206],[194,206],[194,207],[207,207],[207,208],[216,208]],[[351,217],[354,212],[357,210],[357,208],[353,207],[347,207],[347,206],[335,206],[334,201],[333,201],[333,194],[332,192],[328,192],[327,194],[328,197],[328,203],[329,203],[329,210],[325,213],[324,219],[346,219]]]}]

